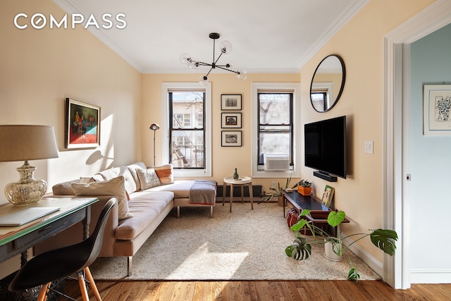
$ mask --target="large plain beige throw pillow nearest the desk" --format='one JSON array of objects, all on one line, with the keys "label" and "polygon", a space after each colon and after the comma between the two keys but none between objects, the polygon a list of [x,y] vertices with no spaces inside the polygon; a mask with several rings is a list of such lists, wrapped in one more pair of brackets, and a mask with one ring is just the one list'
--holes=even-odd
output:
[{"label": "large plain beige throw pillow nearest the desk", "polygon": [[118,198],[119,220],[128,219],[132,214],[128,212],[127,195],[125,192],[124,177],[118,176],[111,180],[92,183],[72,183],[75,195],[115,195]]}]

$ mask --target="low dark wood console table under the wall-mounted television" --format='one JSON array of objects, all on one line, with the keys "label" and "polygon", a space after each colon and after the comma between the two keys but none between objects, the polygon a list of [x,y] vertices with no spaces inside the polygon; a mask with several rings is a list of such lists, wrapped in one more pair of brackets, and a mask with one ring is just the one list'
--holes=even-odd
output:
[{"label": "low dark wood console table under the wall-mounted television", "polygon": [[[327,223],[327,217],[330,211],[333,209],[327,207],[316,199],[315,197],[308,195],[301,195],[297,190],[292,192],[282,191],[283,196],[283,217],[285,217],[285,205],[290,203],[293,208],[300,214],[302,210],[309,209],[310,216],[304,216],[305,219],[312,221],[316,226],[323,228],[323,230],[332,233],[335,236],[335,229],[329,226]],[[349,219],[342,221],[343,223],[349,223]]]}]

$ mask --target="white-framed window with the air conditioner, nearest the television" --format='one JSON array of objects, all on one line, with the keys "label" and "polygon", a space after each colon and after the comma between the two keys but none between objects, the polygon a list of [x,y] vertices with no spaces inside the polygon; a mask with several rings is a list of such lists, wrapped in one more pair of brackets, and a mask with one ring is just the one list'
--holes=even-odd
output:
[{"label": "white-framed window with the air conditioner, nearest the television", "polygon": [[[296,83],[252,84],[252,177],[285,178],[300,172],[300,85]],[[287,154],[287,171],[264,168],[264,154]]]}]

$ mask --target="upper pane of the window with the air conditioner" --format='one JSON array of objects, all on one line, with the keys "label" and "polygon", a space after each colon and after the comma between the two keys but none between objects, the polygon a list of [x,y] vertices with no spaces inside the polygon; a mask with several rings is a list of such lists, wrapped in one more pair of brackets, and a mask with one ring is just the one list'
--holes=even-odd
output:
[{"label": "upper pane of the window with the air conditioner", "polygon": [[290,124],[290,94],[259,94],[260,124]]}]

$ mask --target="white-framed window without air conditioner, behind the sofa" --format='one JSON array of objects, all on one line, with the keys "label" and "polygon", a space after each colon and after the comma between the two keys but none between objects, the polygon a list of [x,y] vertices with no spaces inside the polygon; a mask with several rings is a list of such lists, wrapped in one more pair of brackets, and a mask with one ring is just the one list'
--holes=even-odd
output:
[{"label": "white-framed window without air conditioner, behind the sofa", "polygon": [[163,162],[175,176],[211,176],[211,85],[163,83],[162,95]]}]

